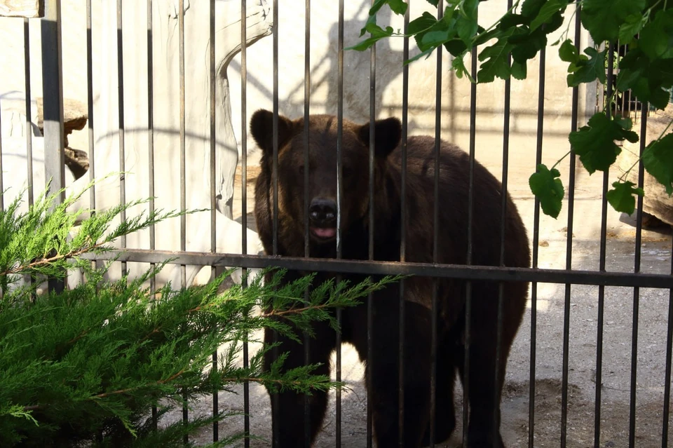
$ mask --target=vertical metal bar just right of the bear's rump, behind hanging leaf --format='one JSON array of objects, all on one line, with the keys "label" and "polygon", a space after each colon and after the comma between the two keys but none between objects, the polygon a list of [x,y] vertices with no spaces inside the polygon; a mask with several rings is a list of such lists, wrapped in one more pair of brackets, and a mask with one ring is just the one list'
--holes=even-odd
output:
[{"label": "vertical metal bar just right of the bear's rump, behind hanging leaf", "polygon": [[[540,50],[540,67],[538,83],[538,123],[536,135],[535,166],[542,163],[542,145],[545,124],[545,66],[547,51]],[[535,198],[533,210],[533,260],[532,267],[538,267],[538,252],[540,241],[540,200]],[[535,365],[536,365],[536,337],[538,328],[538,283],[531,283],[531,362],[529,369],[529,403],[528,403],[528,447],[533,448],[535,439]]]}]

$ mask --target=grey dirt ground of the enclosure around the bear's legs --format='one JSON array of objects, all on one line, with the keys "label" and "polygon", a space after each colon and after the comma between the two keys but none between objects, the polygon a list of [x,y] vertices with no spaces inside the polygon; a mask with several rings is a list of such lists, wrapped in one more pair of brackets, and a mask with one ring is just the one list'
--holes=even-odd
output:
[{"label": "grey dirt ground of the enclosure around the bear's legs", "polygon": [[[498,172],[497,165],[489,166]],[[254,225],[252,198],[257,166],[248,168],[248,222]],[[567,171],[566,171],[567,172]],[[533,201],[527,193],[529,168],[510,169],[510,192],[529,229],[532,239]],[[575,219],[571,246],[572,268],[597,270],[599,267],[600,186],[599,175],[578,175],[575,196]],[[240,194],[240,177],[237,177]],[[566,181],[564,181],[566,183]],[[563,269],[566,265],[567,203],[562,216],[554,220],[541,218],[539,262],[541,268]],[[235,216],[240,216],[240,196],[235,201]],[[634,271],[634,218],[620,216],[610,210],[608,220],[606,266],[608,271]],[[646,230],[641,245],[641,271],[647,273],[671,272],[671,230],[664,227]],[[569,294],[569,388],[568,388],[568,447],[594,446],[594,397],[596,393],[597,320],[599,288],[573,285]],[[670,295],[668,290],[644,288],[639,290],[637,308],[637,379],[635,381],[635,445],[661,446],[662,409],[665,383],[665,356],[667,315]],[[564,330],[565,285],[538,284],[536,363],[534,395],[534,446],[558,447],[561,440],[562,414],[562,353]],[[601,425],[599,447],[627,447],[630,421],[630,381],[632,374],[632,330],[634,290],[625,287],[606,287],[604,295],[603,368],[601,384]],[[519,330],[508,364],[502,403],[501,430],[508,447],[524,447],[529,437],[529,391],[531,371],[531,307]],[[344,380],[351,391],[342,397],[341,444],[344,447],[366,446],[366,393],[362,384],[363,368],[350,346],[342,348]],[[243,395],[222,393],[221,408],[243,411]],[[270,446],[271,410],[264,388],[251,386],[250,423],[255,440],[253,447]],[[462,391],[456,388],[456,406],[462,409]],[[205,398],[194,406],[193,412],[208,413],[212,400]],[[448,444],[460,446],[461,412],[458,428]],[[324,428],[316,447],[334,446],[334,397]],[[177,418],[177,416],[176,416]],[[441,423],[439,423],[441,424]],[[221,435],[236,433],[243,428],[243,418],[231,418],[219,428]],[[210,442],[210,430],[196,437],[198,442]],[[673,437],[673,435],[672,435]]]}]

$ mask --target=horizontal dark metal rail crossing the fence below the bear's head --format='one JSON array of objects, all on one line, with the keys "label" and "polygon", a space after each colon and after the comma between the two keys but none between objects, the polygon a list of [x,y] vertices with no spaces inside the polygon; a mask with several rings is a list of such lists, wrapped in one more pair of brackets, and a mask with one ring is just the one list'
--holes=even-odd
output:
[{"label": "horizontal dark metal rail crossing the fence below the bear's head", "polygon": [[499,266],[465,266],[381,262],[324,258],[267,257],[261,255],[213,254],[211,252],[180,252],[170,250],[126,249],[102,254],[83,254],[91,260],[116,259],[119,262],[196,264],[202,266],[239,266],[265,268],[278,266],[299,271],[360,273],[367,275],[414,275],[465,280],[526,281],[538,283],[572,283],[629,287],[673,288],[673,276],[628,272],[569,271],[566,269],[509,268]]}]

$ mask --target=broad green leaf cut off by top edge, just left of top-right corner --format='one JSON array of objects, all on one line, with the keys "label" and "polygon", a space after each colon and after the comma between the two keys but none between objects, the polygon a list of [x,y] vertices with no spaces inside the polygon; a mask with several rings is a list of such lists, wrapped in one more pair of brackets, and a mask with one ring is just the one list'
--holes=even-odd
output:
[{"label": "broad green leaf cut off by top edge, just left of top-right corner", "polygon": [[645,0],[585,0],[582,8],[582,25],[594,42],[615,42],[619,29],[632,14],[641,13]]}]

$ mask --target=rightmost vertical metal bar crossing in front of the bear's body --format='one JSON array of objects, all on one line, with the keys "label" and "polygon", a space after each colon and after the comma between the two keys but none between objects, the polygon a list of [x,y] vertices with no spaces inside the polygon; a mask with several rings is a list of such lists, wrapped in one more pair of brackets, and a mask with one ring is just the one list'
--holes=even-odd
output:
[{"label": "rightmost vertical metal bar crossing in front of the bear's body", "polygon": [[[474,79],[477,79],[477,47],[471,52],[472,63],[470,71]],[[468,172],[468,253],[465,264],[472,264],[472,221],[473,201],[475,184],[475,144],[477,137],[477,84],[470,85],[470,168]],[[463,365],[463,446],[468,446],[468,402],[470,401],[470,344],[472,337],[472,282],[465,283],[465,360]]]}]

